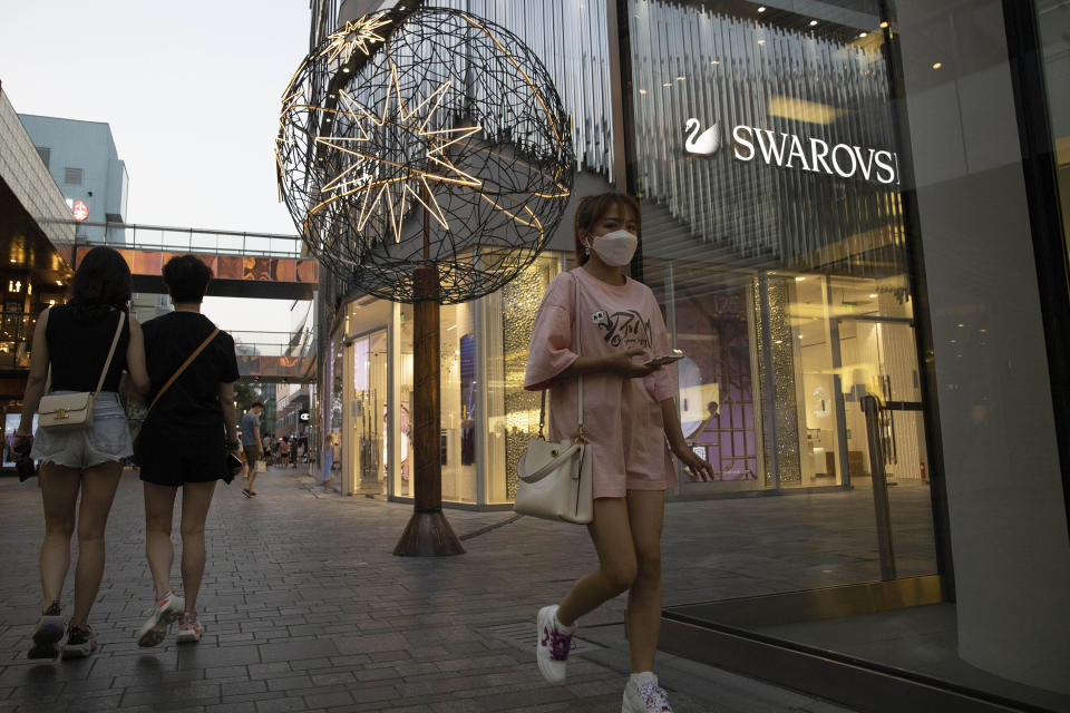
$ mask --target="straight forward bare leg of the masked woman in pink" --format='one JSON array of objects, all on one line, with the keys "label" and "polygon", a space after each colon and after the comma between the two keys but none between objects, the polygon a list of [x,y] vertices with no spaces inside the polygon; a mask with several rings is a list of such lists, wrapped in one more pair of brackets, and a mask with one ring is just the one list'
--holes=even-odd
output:
[{"label": "straight forward bare leg of the masked woman in pink", "polygon": [[665,494],[630,490],[628,518],[632,527],[638,572],[628,593],[628,643],[632,673],[654,670],[661,631],[661,530]]}]

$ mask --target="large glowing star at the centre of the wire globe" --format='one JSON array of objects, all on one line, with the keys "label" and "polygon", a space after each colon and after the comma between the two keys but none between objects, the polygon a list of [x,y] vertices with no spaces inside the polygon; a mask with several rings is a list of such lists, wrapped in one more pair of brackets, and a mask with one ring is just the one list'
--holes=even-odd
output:
[{"label": "large glowing star at the centre of the wire globe", "polygon": [[[483,185],[478,178],[458,168],[446,155],[446,149],[483,130],[480,126],[459,128],[429,128],[431,119],[442,97],[449,91],[451,81],[440,84],[415,107],[407,107],[396,70],[391,71],[391,86],[378,114],[361,107],[352,97],[339,92],[339,114],[349,117],[358,128],[358,136],[318,136],[315,141],[343,154],[356,156],[358,160],[323,184],[327,198],[313,207],[314,215],[331,203],[346,196],[362,194],[359,205],[358,231],[363,231],[368,221],[378,213],[389,221],[395,242],[401,242],[401,228],[410,199],[419,203],[445,229],[449,223],[435,198],[437,184],[448,183],[478,188]],[[396,107],[392,105],[396,104]],[[366,124],[367,121],[367,124]],[[422,162],[391,160],[373,149],[379,143],[372,135],[385,127],[401,129],[409,135],[409,145],[422,152]]]}]

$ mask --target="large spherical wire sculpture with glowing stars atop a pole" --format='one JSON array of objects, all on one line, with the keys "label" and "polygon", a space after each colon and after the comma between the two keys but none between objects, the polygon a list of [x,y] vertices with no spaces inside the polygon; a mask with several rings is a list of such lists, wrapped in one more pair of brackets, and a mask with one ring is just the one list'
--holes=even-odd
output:
[{"label": "large spherical wire sculpture with glowing stars atop a pole", "polygon": [[311,252],[349,285],[412,302],[494,292],[531,264],[572,191],[568,117],[504,28],[444,8],[366,16],[283,96],[279,185]]}]

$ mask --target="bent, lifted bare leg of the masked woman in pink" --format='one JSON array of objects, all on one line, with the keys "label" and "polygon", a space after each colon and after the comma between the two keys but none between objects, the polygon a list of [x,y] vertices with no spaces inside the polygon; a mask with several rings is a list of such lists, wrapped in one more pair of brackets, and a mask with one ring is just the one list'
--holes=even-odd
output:
[{"label": "bent, lifted bare leg of the masked woman in pink", "polygon": [[587,531],[599,553],[599,569],[573,585],[562,600],[557,621],[565,626],[625,592],[635,579],[635,547],[624,498],[596,499]]}]

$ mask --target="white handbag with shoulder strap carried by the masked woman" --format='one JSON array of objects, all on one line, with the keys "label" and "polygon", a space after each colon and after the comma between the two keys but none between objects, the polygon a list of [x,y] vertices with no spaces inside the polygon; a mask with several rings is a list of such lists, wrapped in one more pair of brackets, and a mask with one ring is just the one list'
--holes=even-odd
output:
[{"label": "white handbag with shoulder strap carried by the masked woman", "polygon": [[[573,341],[580,349],[580,281],[573,311]],[[538,437],[533,438],[516,463],[519,477],[513,510],[546,520],[586,525],[594,519],[594,486],[591,477],[591,445],[583,436],[583,377],[578,381],[578,426],[575,440],[547,441],[543,437],[546,391],[538,414]]]}]

